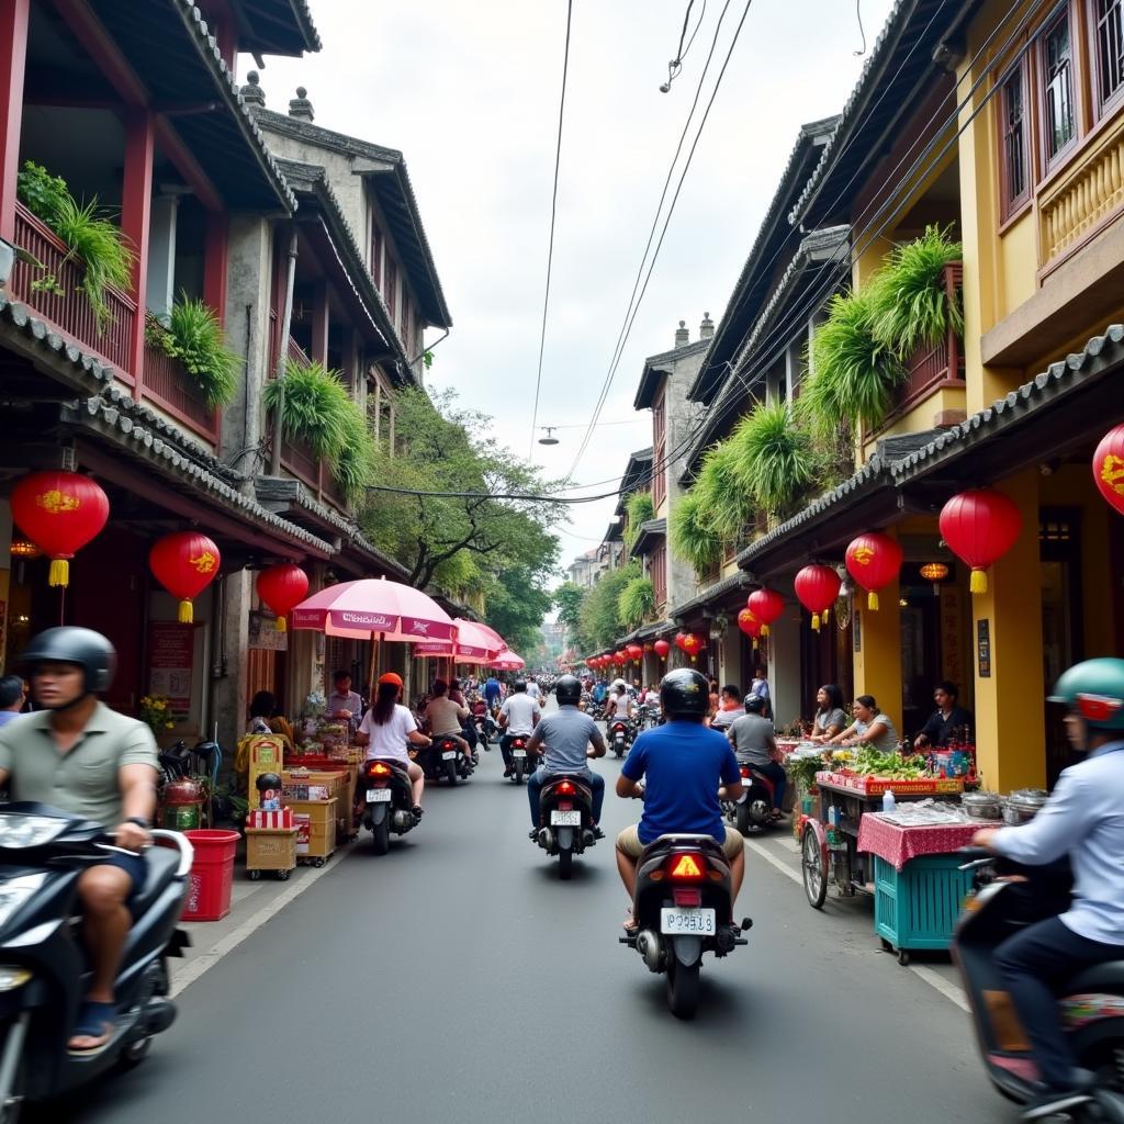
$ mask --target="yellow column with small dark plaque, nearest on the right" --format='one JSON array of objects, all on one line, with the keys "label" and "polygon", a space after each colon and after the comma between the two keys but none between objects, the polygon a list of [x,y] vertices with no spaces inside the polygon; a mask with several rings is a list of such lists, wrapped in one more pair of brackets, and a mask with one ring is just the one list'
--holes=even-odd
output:
[{"label": "yellow column with small dark plaque, nearest on the right", "polygon": [[[972,597],[976,750],[985,786],[1009,792],[1042,788],[1046,779],[1039,472],[1027,469],[996,488],[1018,505],[1023,532],[991,568],[988,591]],[[981,622],[986,622],[989,669],[980,668]]]}]

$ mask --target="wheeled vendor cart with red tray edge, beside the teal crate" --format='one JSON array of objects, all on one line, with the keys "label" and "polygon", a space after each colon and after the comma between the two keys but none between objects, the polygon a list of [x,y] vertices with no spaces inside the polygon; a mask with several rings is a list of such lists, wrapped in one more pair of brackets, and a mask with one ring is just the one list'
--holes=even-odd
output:
[{"label": "wheeled vendor cart with red tray edge, beside the teal crate", "polygon": [[881,810],[887,791],[892,791],[900,804],[954,799],[964,788],[959,778],[887,780],[832,772],[819,773],[816,785],[819,816],[803,816],[800,826],[804,892],[813,909],[823,908],[830,885],[843,897],[872,892],[873,865],[870,856],[859,850],[859,827],[865,813]]}]

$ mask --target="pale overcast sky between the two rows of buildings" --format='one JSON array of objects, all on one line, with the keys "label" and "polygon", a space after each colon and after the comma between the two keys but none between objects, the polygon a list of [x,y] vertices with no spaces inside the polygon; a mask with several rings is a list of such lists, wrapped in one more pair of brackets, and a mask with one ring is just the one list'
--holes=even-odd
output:
[{"label": "pale overcast sky between the two rows of buildings", "polygon": [[[868,47],[891,0],[860,0]],[[668,165],[725,0],[696,0],[701,26],[670,93],[668,60],[687,0],[573,0],[551,310],[534,445],[570,468],[609,368]],[[704,11],[705,8],[705,11]],[[542,327],[565,0],[312,0],[324,49],[266,58],[262,88],[285,111],[308,88],[316,121],[406,155],[453,316],[428,380],[531,448]],[[732,0],[696,120],[744,10]],[[574,479],[619,479],[652,443],[632,408],[644,357],[718,320],[805,121],[839,112],[864,57],[854,0],[754,0],[596,430]],[[243,57],[239,76],[253,63]],[[694,126],[689,134],[694,137]],[[686,153],[685,146],[685,153]],[[678,172],[677,172],[678,178]],[[674,181],[673,181],[674,184]],[[432,342],[436,333],[430,332]],[[609,490],[608,488],[605,490]],[[600,541],[614,507],[575,507],[562,564]]]}]

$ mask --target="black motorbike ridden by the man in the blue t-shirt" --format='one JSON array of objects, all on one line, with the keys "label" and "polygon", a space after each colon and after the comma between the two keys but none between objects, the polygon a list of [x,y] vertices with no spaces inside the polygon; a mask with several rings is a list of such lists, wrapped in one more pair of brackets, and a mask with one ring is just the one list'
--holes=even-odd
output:
[{"label": "black motorbike ridden by the man in the blue t-shirt", "polygon": [[753,922],[735,925],[733,909],[729,862],[709,835],[661,835],[644,849],[633,896],[636,930],[620,943],[664,975],[677,1018],[692,1018],[698,1008],[703,953],[720,959],[747,943],[742,933]]}]

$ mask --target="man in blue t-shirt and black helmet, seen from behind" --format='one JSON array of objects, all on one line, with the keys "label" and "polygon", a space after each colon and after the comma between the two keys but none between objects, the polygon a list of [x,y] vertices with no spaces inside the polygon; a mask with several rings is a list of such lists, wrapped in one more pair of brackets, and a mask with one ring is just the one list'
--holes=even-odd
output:
[{"label": "man in blue t-shirt and black helmet, seen from behind", "polygon": [[[660,704],[667,723],[646,729],[633,744],[617,779],[617,796],[643,796],[638,824],[617,836],[617,870],[629,899],[636,883],[636,865],[649,843],[661,835],[709,835],[722,843],[729,859],[734,898],[745,877],[742,836],[722,821],[718,788],[726,798],[742,795],[742,774],[729,742],[704,722],[709,709],[706,678],[690,668],[663,677]],[[637,783],[645,778],[645,787]]]}]

